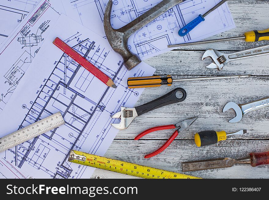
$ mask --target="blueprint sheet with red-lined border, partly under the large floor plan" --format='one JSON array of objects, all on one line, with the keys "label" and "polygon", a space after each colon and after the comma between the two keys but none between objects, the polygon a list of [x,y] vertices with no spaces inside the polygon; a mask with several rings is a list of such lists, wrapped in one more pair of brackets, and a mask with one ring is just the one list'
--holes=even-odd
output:
[{"label": "blueprint sheet with red-lined border, partly under the large floor plan", "polygon": [[0,113],[62,12],[61,1],[42,0],[1,48]]}]

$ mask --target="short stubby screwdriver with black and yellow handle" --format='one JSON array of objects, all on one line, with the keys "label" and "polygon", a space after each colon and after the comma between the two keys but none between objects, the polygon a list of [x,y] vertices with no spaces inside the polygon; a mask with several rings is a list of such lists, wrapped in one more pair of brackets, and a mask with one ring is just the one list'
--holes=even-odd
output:
[{"label": "short stubby screwdriver with black and yellow handle", "polygon": [[202,131],[194,135],[195,144],[200,146],[207,146],[216,144],[221,140],[226,140],[229,135],[243,135],[247,130],[240,130],[233,133],[226,133],[225,131]]}]

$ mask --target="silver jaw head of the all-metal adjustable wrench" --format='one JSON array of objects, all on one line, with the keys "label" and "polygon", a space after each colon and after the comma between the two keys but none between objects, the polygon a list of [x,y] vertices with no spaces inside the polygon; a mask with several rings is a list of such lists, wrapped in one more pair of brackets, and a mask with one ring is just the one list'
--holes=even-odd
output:
[{"label": "silver jaw head of the all-metal adjustable wrench", "polygon": [[224,66],[224,62],[226,61],[226,58],[224,56],[223,53],[214,50],[214,49],[208,49],[205,51],[205,53],[203,54],[202,60],[204,60],[205,58],[210,57],[212,59],[212,63],[210,63],[209,65],[206,66],[206,68],[209,69],[219,69],[221,70]]}]

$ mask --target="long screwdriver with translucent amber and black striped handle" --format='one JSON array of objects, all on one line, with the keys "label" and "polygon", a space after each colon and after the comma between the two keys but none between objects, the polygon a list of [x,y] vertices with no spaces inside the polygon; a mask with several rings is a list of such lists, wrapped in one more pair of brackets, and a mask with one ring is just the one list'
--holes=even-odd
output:
[{"label": "long screwdriver with translucent amber and black striped handle", "polygon": [[234,78],[249,78],[250,75],[231,75],[231,76],[203,76],[196,78],[173,79],[171,75],[166,77],[161,76],[145,76],[128,78],[128,88],[146,88],[160,87],[161,85],[171,86],[173,82],[181,81],[197,81],[197,80],[214,80],[214,79],[234,79]]}]

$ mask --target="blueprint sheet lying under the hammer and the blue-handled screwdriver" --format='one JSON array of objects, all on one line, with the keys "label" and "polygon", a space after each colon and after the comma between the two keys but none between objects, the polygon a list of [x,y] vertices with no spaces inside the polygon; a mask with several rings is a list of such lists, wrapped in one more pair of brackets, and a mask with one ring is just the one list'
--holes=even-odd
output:
[{"label": "blueprint sheet lying under the hammer and the blue-handled screwdriver", "polygon": [[[103,18],[108,0],[62,0],[62,2],[67,16],[105,37]],[[126,25],[159,2],[160,0],[113,0],[112,27],[117,29]],[[187,0],[174,6],[132,34],[128,40],[129,48],[144,60],[171,50],[167,48],[168,44],[202,40],[234,28],[234,20],[225,3],[206,16],[205,21],[185,37],[178,35],[179,29],[219,2],[220,0]]]}]

